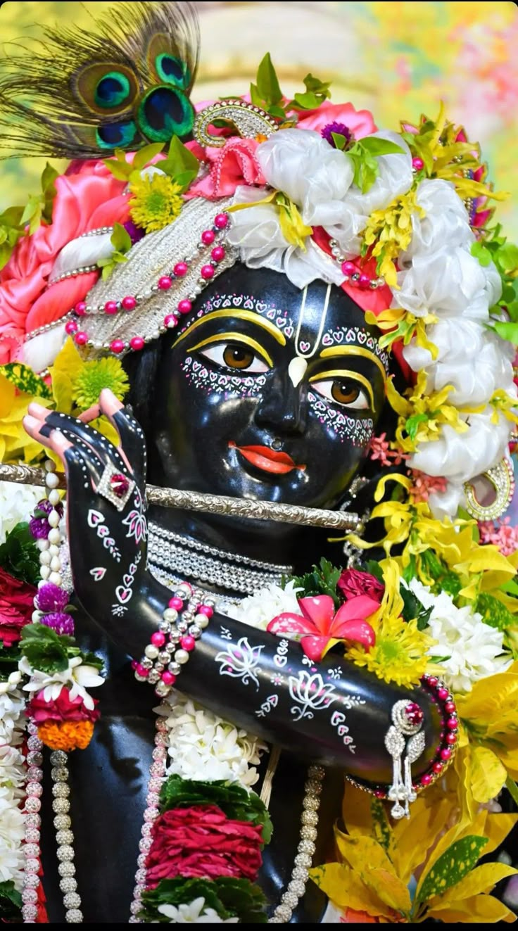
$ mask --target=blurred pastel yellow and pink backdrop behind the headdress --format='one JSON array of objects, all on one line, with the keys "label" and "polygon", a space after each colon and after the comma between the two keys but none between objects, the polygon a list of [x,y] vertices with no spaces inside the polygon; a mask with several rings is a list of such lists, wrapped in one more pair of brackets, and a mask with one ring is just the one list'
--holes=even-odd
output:
[{"label": "blurred pastel yellow and pink backdrop behind the headdress", "polygon": [[[8,0],[0,8],[0,54],[11,42],[41,36],[44,25],[94,28],[92,17],[113,6]],[[511,0],[196,6],[201,66],[195,101],[247,91],[266,51],[286,93],[302,89],[311,71],[333,81],[334,102],[372,110],[379,128],[397,129],[401,119],[414,122],[421,113],[435,116],[443,100],[450,119],[481,142],[495,185],[510,193],[498,218],[508,236],[518,238],[518,8]],[[0,210],[38,191],[43,165],[28,159],[2,165]]]}]

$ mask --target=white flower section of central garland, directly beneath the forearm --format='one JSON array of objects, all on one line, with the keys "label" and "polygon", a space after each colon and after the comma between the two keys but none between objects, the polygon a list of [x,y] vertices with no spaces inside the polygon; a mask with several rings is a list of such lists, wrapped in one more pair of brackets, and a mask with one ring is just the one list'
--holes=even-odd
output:
[{"label": "white flower section of central garland, directly beneath the forearm", "polygon": [[257,782],[265,743],[184,695],[171,693],[168,702],[168,776],[228,779],[246,789]]}]

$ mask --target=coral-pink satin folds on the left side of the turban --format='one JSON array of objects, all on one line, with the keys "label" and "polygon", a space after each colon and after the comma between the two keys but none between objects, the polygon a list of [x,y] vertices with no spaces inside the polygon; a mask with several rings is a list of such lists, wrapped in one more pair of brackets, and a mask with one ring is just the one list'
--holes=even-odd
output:
[{"label": "coral-pink satin folds on the left side of the turban", "polygon": [[0,271],[0,364],[17,357],[27,332],[60,319],[95,284],[98,272],[48,287],[63,246],[89,230],[128,220],[125,182],[116,181],[102,161],[81,163],[77,172],[57,178],[55,186],[52,223],[23,236]]}]

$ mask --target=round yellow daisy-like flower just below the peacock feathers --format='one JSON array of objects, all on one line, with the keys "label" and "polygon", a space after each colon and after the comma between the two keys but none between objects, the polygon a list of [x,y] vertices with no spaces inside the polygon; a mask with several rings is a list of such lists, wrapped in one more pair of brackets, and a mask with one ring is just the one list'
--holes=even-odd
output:
[{"label": "round yellow daisy-like flower just below the peacock feathers", "polygon": [[153,174],[130,183],[130,217],[146,233],[161,230],[176,219],[182,205],[182,186],[168,175]]}]

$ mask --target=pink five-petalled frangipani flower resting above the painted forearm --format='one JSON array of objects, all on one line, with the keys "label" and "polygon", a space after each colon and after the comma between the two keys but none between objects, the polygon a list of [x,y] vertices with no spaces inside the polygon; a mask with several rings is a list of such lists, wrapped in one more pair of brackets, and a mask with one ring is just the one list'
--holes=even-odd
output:
[{"label": "pink five-petalled frangipani flower resting above the painted forearm", "polygon": [[351,598],[336,614],[331,595],[300,598],[298,604],[302,616],[289,612],[278,614],[266,630],[272,634],[303,634],[301,646],[309,659],[319,662],[336,641],[354,641],[367,648],[374,646],[375,632],[365,620],[379,608],[374,598],[368,595]]}]

